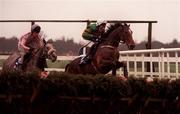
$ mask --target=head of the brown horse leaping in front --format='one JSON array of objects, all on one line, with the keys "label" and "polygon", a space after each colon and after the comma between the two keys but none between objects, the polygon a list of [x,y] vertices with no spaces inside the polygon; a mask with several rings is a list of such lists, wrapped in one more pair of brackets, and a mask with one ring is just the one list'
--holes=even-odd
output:
[{"label": "head of the brown horse leaping in front", "polygon": [[120,42],[125,43],[129,49],[134,49],[135,42],[132,37],[133,32],[130,29],[130,25],[127,25],[126,23],[121,24],[119,29]]}]

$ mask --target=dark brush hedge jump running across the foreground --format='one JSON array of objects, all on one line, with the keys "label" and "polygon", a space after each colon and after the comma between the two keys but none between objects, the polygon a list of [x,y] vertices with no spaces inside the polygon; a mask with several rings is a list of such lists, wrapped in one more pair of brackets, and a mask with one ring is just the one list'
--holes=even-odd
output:
[{"label": "dark brush hedge jump running across the foreground", "polygon": [[43,114],[179,114],[180,80],[0,73],[0,112]]}]

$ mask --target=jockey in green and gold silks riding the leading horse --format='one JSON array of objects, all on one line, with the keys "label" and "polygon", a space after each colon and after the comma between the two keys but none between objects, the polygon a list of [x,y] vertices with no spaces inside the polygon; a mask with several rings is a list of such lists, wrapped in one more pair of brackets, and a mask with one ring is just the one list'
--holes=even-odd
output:
[{"label": "jockey in green and gold silks riding the leading horse", "polygon": [[92,59],[93,55],[96,52],[96,48],[99,44],[99,42],[102,40],[101,36],[105,33],[105,28],[106,28],[107,21],[97,21],[96,23],[88,23],[86,29],[84,30],[82,37],[85,40],[89,40],[94,42],[92,45],[89,53],[83,57],[79,63],[79,65],[84,65],[90,62]]}]

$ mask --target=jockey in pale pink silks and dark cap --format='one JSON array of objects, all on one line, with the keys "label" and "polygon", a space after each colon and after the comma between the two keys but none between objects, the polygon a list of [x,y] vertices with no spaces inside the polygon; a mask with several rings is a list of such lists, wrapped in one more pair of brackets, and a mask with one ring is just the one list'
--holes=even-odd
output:
[{"label": "jockey in pale pink silks and dark cap", "polygon": [[43,40],[39,35],[41,31],[41,27],[37,24],[31,26],[31,32],[23,35],[18,42],[18,50],[20,52],[20,59],[18,60],[18,65],[22,65],[24,63],[24,56],[32,51],[31,49],[38,49],[43,46]]}]

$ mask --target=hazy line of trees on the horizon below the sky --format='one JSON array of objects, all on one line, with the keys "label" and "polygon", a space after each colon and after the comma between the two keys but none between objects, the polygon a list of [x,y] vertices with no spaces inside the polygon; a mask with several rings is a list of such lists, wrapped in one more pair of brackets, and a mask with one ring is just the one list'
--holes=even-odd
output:
[{"label": "hazy line of trees on the horizon below the sky", "polygon": [[[64,37],[57,40],[50,39],[57,51],[58,55],[78,55],[79,49],[83,46],[80,43],[74,42],[72,39],[65,40]],[[146,49],[146,41],[136,43],[134,50]],[[0,54],[11,54],[17,51],[18,38],[17,37],[0,37]],[[152,49],[159,48],[178,48],[180,47],[180,42],[177,39],[173,39],[169,43],[162,43],[159,41],[152,41]],[[128,50],[126,45],[120,45],[119,50]]]}]

